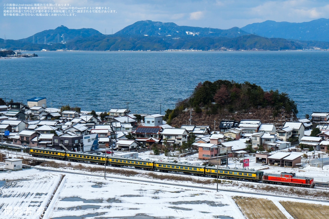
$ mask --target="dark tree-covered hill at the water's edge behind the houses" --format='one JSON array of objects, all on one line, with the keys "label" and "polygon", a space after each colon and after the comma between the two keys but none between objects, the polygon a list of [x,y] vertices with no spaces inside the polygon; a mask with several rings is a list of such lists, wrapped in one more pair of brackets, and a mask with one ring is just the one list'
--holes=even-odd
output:
[{"label": "dark tree-covered hill at the water's edge behind the houses", "polygon": [[190,98],[177,103],[175,109],[166,110],[164,119],[170,123],[186,108],[194,108],[196,113],[206,109],[207,114],[218,114],[223,112],[223,109],[228,112],[245,112],[250,108],[259,107],[272,107],[273,116],[282,109],[288,113],[298,113],[297,104],[285,92],[264,91],[261,86],[249,82],[217,80],[200,82]]}]

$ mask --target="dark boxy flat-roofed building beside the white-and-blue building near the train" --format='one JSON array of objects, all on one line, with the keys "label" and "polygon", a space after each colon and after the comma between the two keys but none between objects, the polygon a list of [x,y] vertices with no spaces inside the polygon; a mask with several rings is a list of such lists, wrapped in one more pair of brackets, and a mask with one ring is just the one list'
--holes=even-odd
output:
[{"label": "dark boxy flat-roofed building beside the white-and-blue building near the train", "polygon": [[53,136],[53,147],[68,151],[83,151],[83,137],[83,135]]}]

